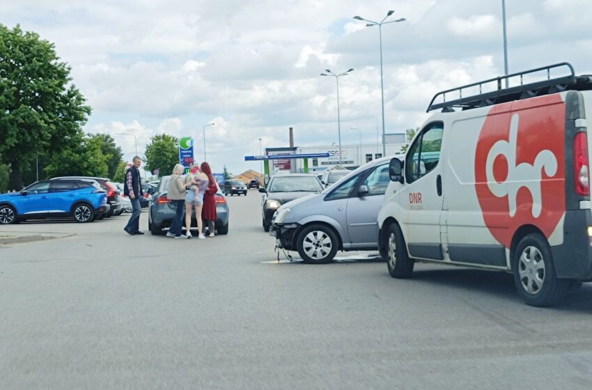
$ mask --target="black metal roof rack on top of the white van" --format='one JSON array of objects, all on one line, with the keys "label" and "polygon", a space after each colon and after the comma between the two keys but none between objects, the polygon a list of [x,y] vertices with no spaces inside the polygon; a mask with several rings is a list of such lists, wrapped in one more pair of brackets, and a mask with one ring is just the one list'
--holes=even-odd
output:
[{"label": "black metal roof rack on top of the white van", "polygon": [[[567,76],[551,78],[551,70],[554,68],[569,68],[570,74]],[[535,72],[547,71],[546,79],[534,81],[524,84],[524,75],[529,75]],[[502,88],[501,81],[509,80],[512,77],[520,77],[520,85]],[[497,83],[497,86],[493,83]],[[478,87],[477,95],[469,95],[462,97],[462,91],[467,88]],[[484,88],[485,87],[485,88]],[[492,88],[493,87],[493,88]],[[497,87],[497,88],[496,88]],[[483,92],[484,89],[490,89],[488,92]],[[493,91],[491,91],[493,89]],[[504,102],[512,102],[513,100],[522,100],[533,98],[534,96],[548,95],[550,93],[557,93],[566,90],[592,90],[592,75],[576,76],[573,66],[570,63],[562,62],[554,65],[547,65],[541,68],[531,70],[524,70],[524,72],[517,72],[511,75],[494,77],[483,81],[478,81],[473,84],[467,84],[458,88],[448,89],[446,91],[438,92],[432,98],[430,105],[426,112],[435,109],[442,109],[442,112],[454,111],[454,108],[462,110],[474,109],[476,107],[485,107],[492,104],[499,104]],[[446,101],[446,94],[458,93],[458,98]],[[435,100],[441,96],[442,102],[435,103]]]}]

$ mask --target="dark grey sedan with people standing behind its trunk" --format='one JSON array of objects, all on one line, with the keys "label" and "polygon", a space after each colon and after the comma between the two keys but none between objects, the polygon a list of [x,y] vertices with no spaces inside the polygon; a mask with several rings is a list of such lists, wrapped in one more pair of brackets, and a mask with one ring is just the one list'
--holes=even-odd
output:
[{"label": "dark grey sedan with people standing behind its trunk", "polygon": [[[163,235],[166,233],[163,229],[169,228],[171,226],[171,222],[175,217],[176,207],[166,198],[166,193],[169,189],[169,180],[171,176],[164,176],[162,180],[160,180],[158,188],[153,195],[153,198],[150,199],[150,205],[148,206],[148,228],[153,235]],[[228,234],[228,216],[230,214],[230,210],[228,209],[228,203],[226,203],[226,198],[221,193],[220,188],[218,187],[218,192],[215,195],[216,199],[216,212],[218,214],[218,219],[215,223],[215,229],[217,234],[225,235]],[[201,215],[198,216],[201,218]],[[185,222],[185,216],[183,217],[183,221]],[[195,209],[192,210],[192,227],[197,226],[197,219],[195,215]],[[207,228],[207,225],[204,224],[204,227]]]}]

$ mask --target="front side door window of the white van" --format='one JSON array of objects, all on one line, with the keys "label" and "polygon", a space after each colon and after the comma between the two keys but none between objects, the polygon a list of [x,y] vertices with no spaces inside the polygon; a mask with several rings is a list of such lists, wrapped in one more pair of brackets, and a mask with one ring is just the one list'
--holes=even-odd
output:
[{"label": "front side door window of the white van", "polygon": [[443,132],[444,123],[432,123],[415,139],[405,158],[407,183],[425,176],[438,165]]}]

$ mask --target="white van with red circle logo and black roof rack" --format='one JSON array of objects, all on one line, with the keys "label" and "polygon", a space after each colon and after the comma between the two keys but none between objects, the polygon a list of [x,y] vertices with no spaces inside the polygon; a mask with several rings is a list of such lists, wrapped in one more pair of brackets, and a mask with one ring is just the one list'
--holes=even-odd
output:
[{"label": "white van with red circle logo and black roof rack", "polygon": [[592,281],[592,76],[550,65],[443,91],[435,109],[389,166],[378,225],[391,276],[416,261],[512,272],[533,306]]}]

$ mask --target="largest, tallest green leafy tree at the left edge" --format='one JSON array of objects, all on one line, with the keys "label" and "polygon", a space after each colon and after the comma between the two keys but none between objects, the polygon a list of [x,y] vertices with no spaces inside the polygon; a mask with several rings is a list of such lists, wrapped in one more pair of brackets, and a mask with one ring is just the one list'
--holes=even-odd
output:
[{"label": "largest, tallest green leafy tree at the left edge", "polygon": [[0,162],[10,164],[13,188],[37,156],[79,146],[91,107],[71,81],[53,43],[0,24]]}]

